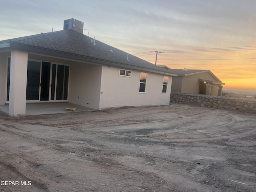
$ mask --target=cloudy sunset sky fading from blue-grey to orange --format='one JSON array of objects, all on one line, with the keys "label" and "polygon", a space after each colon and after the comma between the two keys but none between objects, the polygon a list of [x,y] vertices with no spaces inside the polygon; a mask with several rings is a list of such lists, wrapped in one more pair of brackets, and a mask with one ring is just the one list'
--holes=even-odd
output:
[{"label": "cloudy sunset sky fading from blue-grey to orange", "polygon": [[157,65],[211,70],[224,89],[256,91],[256,0],[0,0],[0,5],[0,40],[63,30],[63,21],[75,18],[84,22],[85,35],[144,60],[155,63],[151,51],[163,51]]}]

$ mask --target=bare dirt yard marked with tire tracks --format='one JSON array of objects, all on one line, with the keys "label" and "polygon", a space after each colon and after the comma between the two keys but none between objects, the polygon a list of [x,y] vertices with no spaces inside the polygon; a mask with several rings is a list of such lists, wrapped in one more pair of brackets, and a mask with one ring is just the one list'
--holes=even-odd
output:
[{"label": "bare dirt yard marked with tire tracks", "polygon": [[256,115],[184,104],[0,113],[0,181],[3,192],[255,192]]}]

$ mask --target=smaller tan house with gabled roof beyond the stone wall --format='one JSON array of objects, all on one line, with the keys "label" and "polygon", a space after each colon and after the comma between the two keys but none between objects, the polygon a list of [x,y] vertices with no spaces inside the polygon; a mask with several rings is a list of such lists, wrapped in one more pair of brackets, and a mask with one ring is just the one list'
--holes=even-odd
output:
[{"label": "smaller tan house with gabled roof beyond the stone wall", "polygon": [[221,96],[223,85],[210,70],[169,69],[177,76],[172,78],[171,92]]}]

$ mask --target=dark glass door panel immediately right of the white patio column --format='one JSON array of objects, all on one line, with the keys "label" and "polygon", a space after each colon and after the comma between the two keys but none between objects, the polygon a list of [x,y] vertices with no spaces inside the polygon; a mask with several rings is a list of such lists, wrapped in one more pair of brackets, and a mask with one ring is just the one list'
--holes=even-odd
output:
[{"label": "dark glass door panel immediately right of the white patio column", "polygon": [[26,100],[39,100],[41,62],[28,61]]}]

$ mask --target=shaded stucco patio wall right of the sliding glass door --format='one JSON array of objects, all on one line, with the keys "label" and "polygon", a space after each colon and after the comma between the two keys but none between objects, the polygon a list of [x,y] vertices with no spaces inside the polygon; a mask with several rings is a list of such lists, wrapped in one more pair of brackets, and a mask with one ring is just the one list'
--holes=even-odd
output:
[{"label": "shaded stucco patio wall right of the sliding glass door", "polygon": [[99,109],[101,68],[78,62],[70,65],[68,102]]}]

